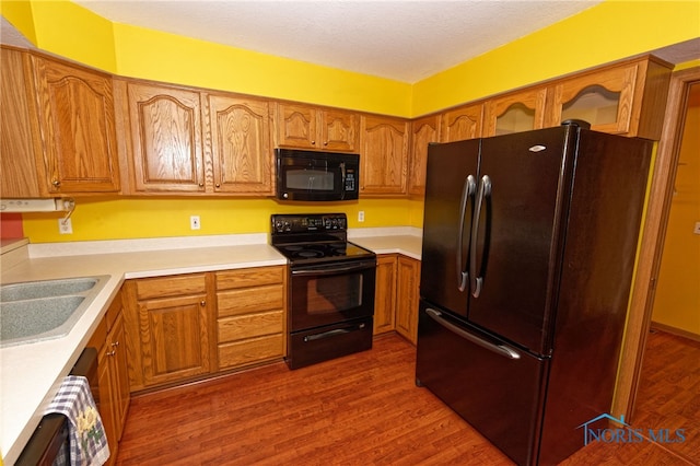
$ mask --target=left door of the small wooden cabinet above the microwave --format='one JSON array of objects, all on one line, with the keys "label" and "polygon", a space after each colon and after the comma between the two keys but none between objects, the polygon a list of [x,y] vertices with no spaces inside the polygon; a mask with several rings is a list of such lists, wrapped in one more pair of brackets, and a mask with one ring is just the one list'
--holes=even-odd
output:
[{"label": "left door of the small wooden cabinet above the microwave", "polygon": [[277,144],[295,149],[317,149],[316,109],[306,105],[277,104]]}]

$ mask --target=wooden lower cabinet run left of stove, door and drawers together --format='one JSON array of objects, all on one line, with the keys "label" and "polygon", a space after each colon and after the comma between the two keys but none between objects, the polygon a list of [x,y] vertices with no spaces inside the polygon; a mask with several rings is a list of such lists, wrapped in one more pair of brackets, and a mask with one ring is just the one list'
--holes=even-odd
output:
[{"label": "wooden lower cabinet run left of stove, door and drawers together", "polygon": [[128,280],[132,392],[284,357],[287,267]]}]

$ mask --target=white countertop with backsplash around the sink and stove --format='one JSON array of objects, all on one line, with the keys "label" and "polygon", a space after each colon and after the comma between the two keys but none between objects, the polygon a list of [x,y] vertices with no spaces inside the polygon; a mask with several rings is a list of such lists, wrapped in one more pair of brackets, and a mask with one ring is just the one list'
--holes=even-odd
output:
[{"label": "white countertop with backsplash around the sink and stove", "polygon": [[[365,230],[357,235],[349,233],[349,240],[376,254],[400,253],[420,259],[421,238],[410,234],[415,230]],[[0,349],[0,452],[5,464],[13,464],[22,452],[45,406],[80,357],[124,280],[287,264],[287,259],[267,244],[265,234],[55,246],[27,245],[23,241],[3,242],[1,246],[2,283],[109,276],[67,336]]]}]

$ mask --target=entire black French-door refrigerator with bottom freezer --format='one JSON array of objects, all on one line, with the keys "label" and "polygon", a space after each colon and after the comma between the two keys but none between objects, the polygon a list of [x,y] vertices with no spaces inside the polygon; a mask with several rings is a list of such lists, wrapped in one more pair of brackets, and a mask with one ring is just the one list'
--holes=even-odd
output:
[{"label": "entire black French-door refrigerator with bottom freezer", "polygon": [[416,383],[522,465],[612,401],[652,142],[585,126],[428,150]]}]

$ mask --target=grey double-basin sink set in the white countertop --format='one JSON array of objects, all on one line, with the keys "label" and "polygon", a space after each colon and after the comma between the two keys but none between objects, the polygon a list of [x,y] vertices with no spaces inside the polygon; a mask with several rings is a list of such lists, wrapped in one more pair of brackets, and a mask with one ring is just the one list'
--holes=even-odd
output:
[{"label": "grey double-basin sink set in the white countertop", "polygon": [[0,287],[0,347],[68,335],[108,276],[42,280]]}]

